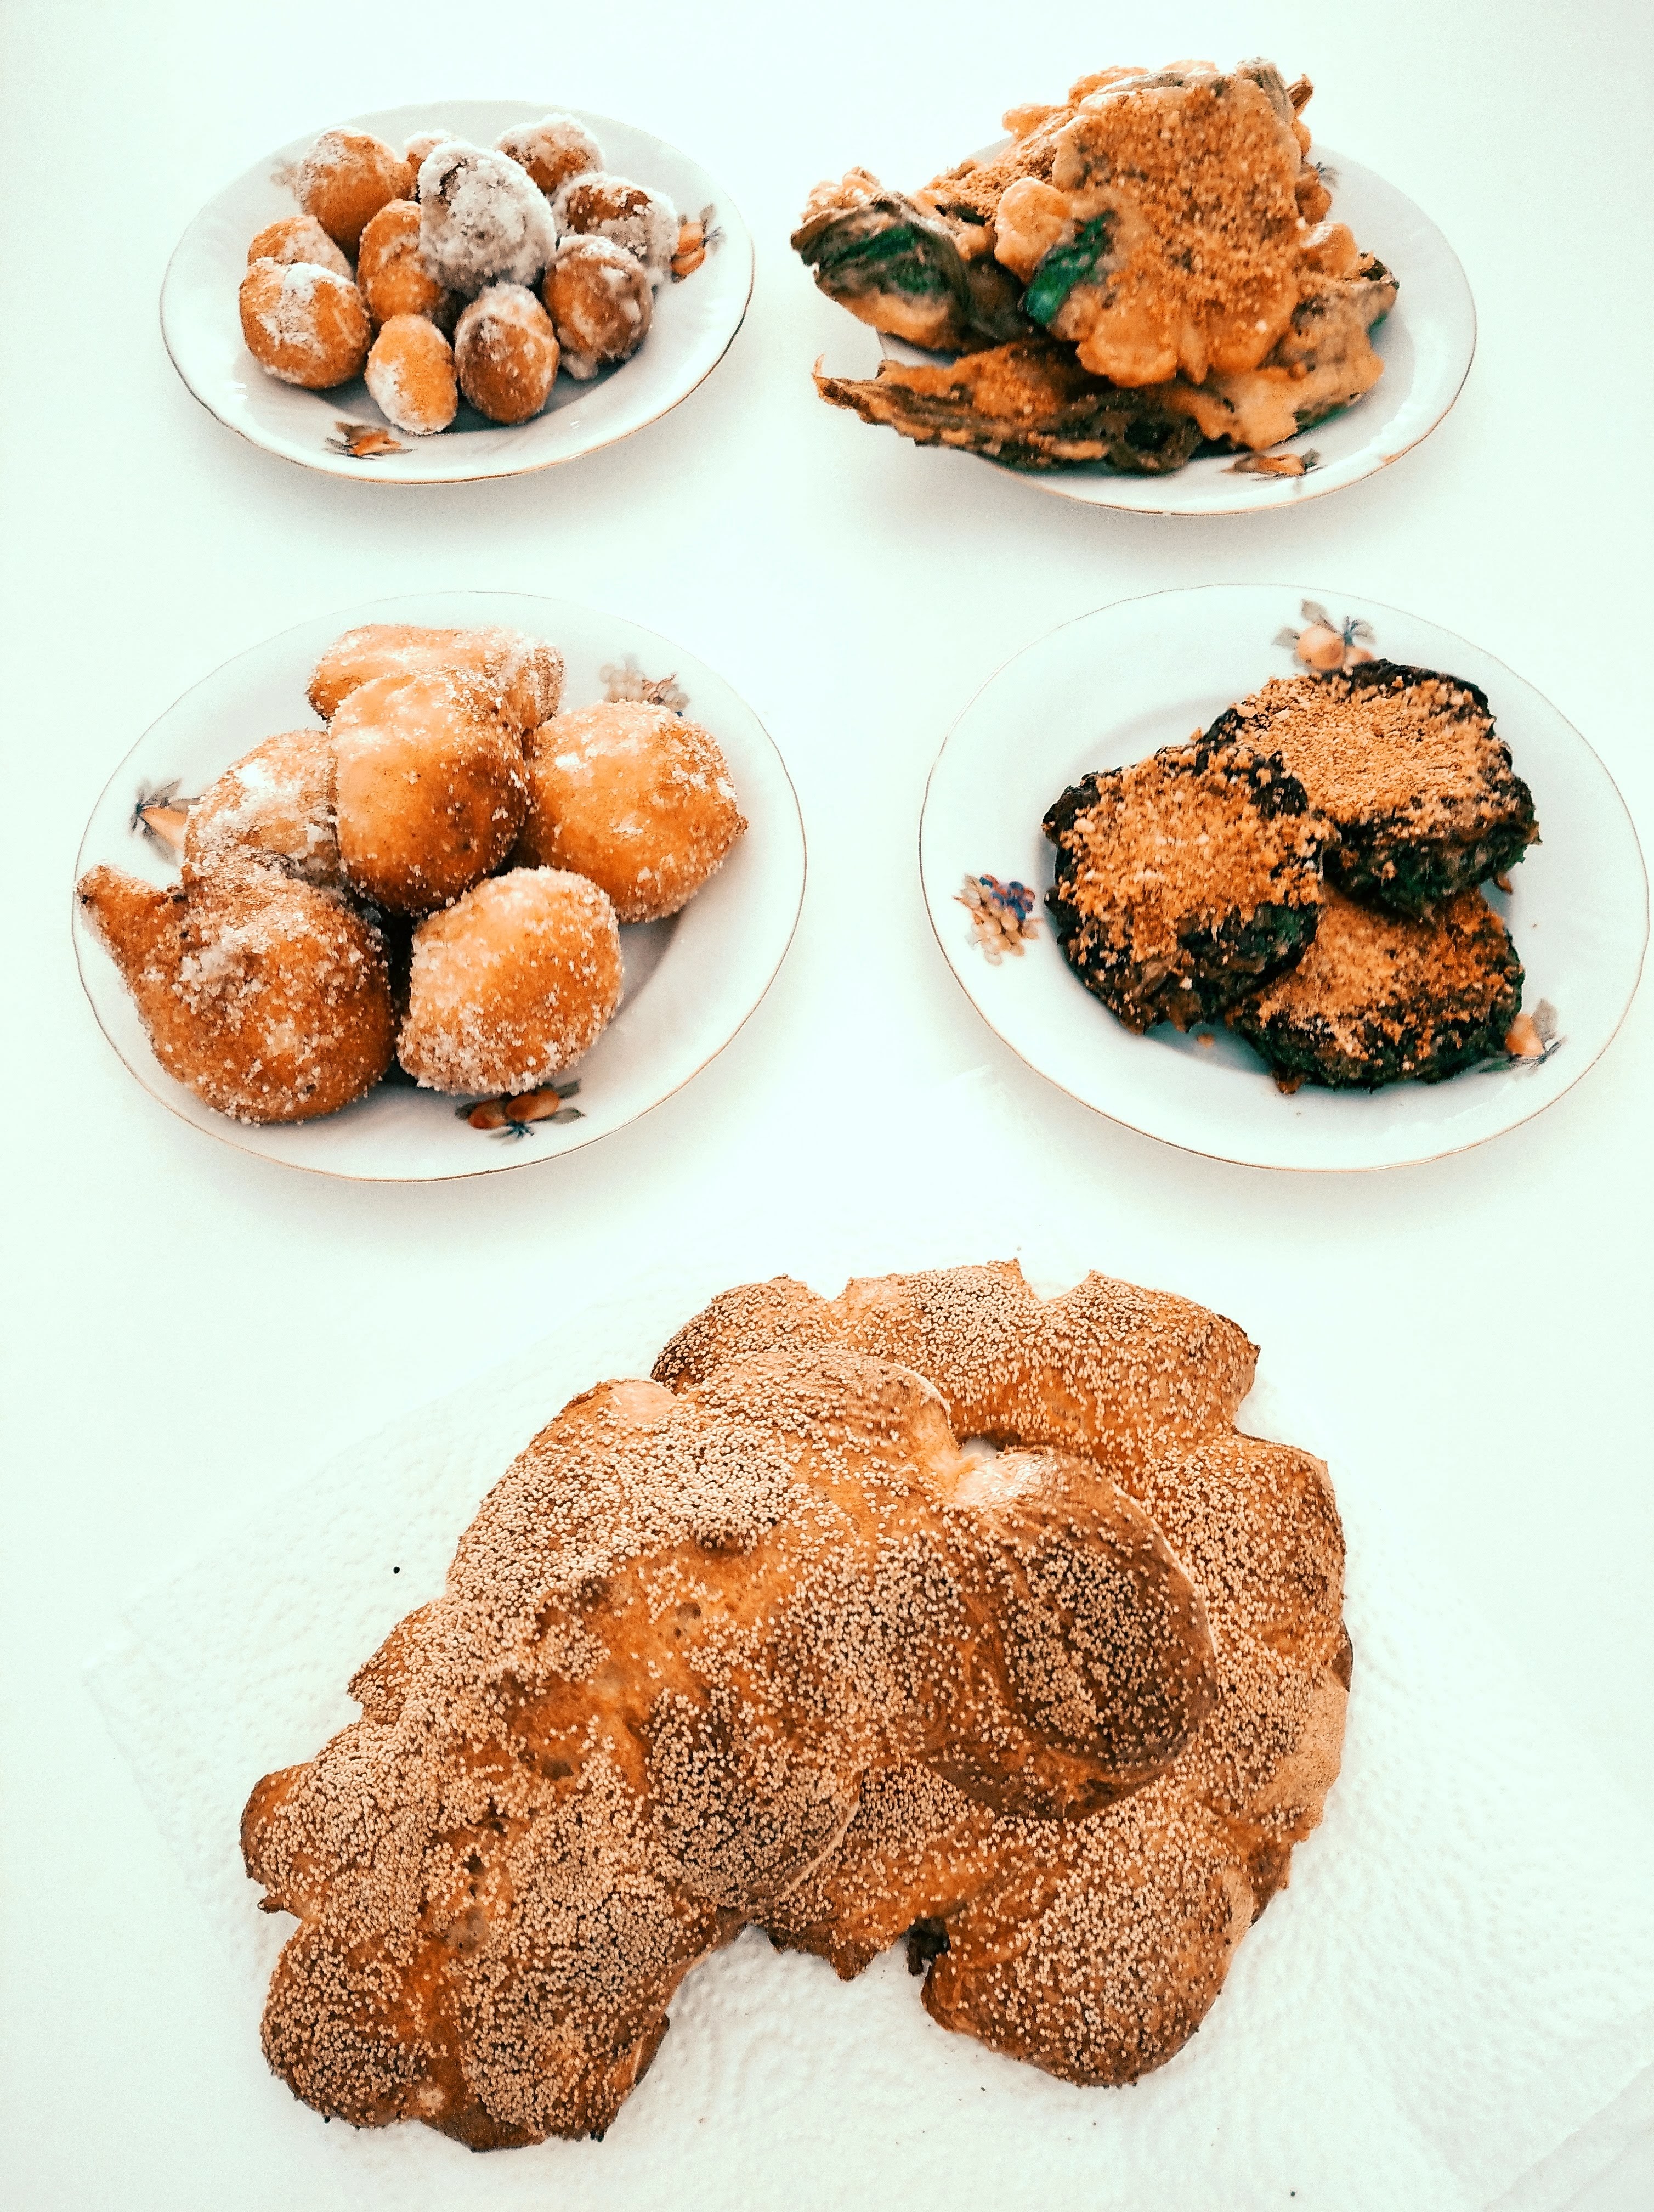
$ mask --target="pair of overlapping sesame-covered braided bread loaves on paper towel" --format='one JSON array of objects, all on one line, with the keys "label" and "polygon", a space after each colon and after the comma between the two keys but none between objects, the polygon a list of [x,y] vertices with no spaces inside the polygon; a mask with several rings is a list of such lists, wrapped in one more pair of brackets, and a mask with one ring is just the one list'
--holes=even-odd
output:
[{"label": "pair of overlapping sesame-covered braided bread loaves on paper towel", "polygon": [[1161,2066],[1344,1732],[1338,1511],[1236,1431],[1254,1360],[1002,1263],[745,1285],[575,1398],[252,1792],[270,2064],[356,2126],[601,2135],[756,1924],[845,1978],[907,1936],[933,2020],[1064,2079]]}]

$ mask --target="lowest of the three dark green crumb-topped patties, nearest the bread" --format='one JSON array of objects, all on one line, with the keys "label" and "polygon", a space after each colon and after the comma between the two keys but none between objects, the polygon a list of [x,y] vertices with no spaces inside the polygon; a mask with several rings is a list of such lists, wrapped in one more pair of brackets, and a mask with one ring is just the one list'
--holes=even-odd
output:
[{"label": "lowest of the three dark green crumb-topped patties, nearest the bread", "polygon": [[1521,960],[1479,891],[1415,920],[1327,894],[1289,975],[1229,1009],[1276,1079],[1331,1091],[1440,1084],[1488,1060],[1521,1009]]}]

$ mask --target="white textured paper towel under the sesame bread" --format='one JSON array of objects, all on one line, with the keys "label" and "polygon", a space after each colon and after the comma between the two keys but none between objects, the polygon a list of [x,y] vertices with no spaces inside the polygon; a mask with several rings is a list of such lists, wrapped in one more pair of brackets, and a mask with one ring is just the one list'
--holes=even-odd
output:
[{"label": "white textured paper towel under the sesame bread", "polygon": [[[250,2037],[292,1922],[259,1913],[241,1871],[248,1790],[356,1717],[354,1668],[436,1595],[482,1493],[575,1391],[648,1374],[712,1292],[761,1274],[834,1292],[1015,1254],[1053,1290],[1108,1267],[1066,1250],[1059,1194],[986,1075],[882,1141],[878,1170],[858,1161],[809,1197],[807,1223],[754,1210],[708,1230],[130,1606],[93,1688],[226,1944]],[[1267,1376],[1265,1345],[1243,1425],[1320,1451],[1340,1482],[1338,1436]],[[1340,1482],[1340,1506],[1344,1772],[1291,1887],[1161,2073],[1128,2090],[1053,2081],[938,2028],[900,1951],[840,1984],[747,1931],[690,1975],[604,2143],[473,2157],[416,2126],[334,2126],[345,2192],[374,2212],[1566,2205],[1654,2115],[1650,1838],[1382,1500]]]}]

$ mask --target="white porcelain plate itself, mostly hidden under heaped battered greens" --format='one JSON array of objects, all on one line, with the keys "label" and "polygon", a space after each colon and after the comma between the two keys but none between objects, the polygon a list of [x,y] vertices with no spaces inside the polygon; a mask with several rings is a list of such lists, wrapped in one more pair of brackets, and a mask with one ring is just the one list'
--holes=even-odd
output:
[{"label": "white porcelain plate itself, mostly hidden under heaped battered greens", "polygon": [[[1008,142],[1004,142],[1008,144]],[[982,148],[991,155],[995,148]],[[1340,491],[1400,460],[1420,438],[1428,438],[1470,374],[1475,354],[1475,305],[1457,257],[1435,223],[1360,161],[1347,161],[1325,146],[1316,159],[1327,170],[1340,223],[1355,243],[1395,274],[1395,305],[1373,330],[1373,347],[1384,374],[1353,407],[1327,416],[1313,429],[1287,438],[1276,453],[1316,456],[1305,476],[1236,473],[1236,453],[1185,462],[1174,476],[1121,476],[1101,462],[1061,469],[1017,469],[1015,476],[1088,507],[1128,507],[1143,515],[1249,515],[1265,507],[1296,507],[1300,500]],[[935,361],[898,338],[880,341],[898,361]],[[1004,467],[993,462],[993,467]]]}]

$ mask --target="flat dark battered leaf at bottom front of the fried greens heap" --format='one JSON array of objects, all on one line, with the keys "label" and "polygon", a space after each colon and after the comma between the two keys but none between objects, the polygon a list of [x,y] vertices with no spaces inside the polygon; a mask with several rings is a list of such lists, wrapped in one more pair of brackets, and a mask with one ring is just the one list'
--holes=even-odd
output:
[{"label": "flat dark battered leaf at bottom front of the fried greens heap", "polygon": [[880,361],[878,376],[865,383],[816,369],[816,392],[918,445],[953,445],[1015,469],[1103,460],[1134,476],[1165,476],[1201,442],[1187,416],[1150,392],[1119,392],[1088,376],[1050,338],[964,354],[951,367]]}]

